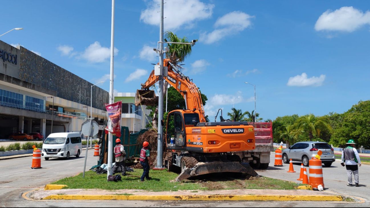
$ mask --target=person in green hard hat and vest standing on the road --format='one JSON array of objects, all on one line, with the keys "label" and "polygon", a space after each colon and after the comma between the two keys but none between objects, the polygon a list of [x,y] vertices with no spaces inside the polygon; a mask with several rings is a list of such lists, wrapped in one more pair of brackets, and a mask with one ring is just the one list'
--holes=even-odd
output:
[{"label": "person in green hard hat and vest standing on the road", "polygon": [[353,140],[348,140],[346,143],[346,148],[342,151],[342,163],[341,165],[344,166],[346,164],[347,169],[347,176],[348,176],[348,185],[352,186],[352,172],[354,175],[354,182],[356,187],[359,187],[359,166],[361,166],[360,156],[357,152],[356,148],[354,147],[356,143]]}]

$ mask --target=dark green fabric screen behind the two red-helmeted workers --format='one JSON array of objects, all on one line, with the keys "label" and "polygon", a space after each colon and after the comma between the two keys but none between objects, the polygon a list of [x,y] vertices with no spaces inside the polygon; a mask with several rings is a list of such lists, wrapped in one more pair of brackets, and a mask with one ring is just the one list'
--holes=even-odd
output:
[{"label": "dark green fabric screen behind the two red-helmeted workers", "polygon": [[[135,134],[130,134],[128,127],[121,127],[121,144],[124,145],[124,149],[126,152],[126,157],[131,157],[133,155],[138,155],[140,153],[141,147],[138,147],[136,144],[137,138],[140,134],[143,134],[148,130],[142,129]],[[113,147],[116,145],[115,140],[118,137],[113,136]],[[105,134],[103,131],[102,138],[101,138],[101,148],[100,148],[100,155],[98,160],[98,165],[108,164],[108,134]],[[112,162],[114,162],[114,152],[112,152]]]}]

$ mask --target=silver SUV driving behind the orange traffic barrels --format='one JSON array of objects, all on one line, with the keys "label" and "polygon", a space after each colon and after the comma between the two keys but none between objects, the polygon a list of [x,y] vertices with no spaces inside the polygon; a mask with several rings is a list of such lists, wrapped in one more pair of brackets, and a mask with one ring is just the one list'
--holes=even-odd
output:
[{"label": "silver SUV driving behind the orange traffic barrels", "polygon": [[333,148],[326,142],[297,142],[292,147],[283,150],[283,162],[289,163],[292,159],[293,161],[302,161],[303,165],[308,167],[309,160],[315,157],[319,150],[323,152],[320,160],[326,167],[330,167],[335,161],[335,155]]}]

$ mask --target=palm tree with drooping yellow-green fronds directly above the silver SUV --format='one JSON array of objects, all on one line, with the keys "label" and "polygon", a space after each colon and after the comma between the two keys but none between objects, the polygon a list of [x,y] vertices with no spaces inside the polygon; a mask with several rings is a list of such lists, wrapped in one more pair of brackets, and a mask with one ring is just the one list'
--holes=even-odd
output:
[{"label": "palm tree with drooping yellow-green fronds directly above the silver SUV", "polygon": [[308,131],[308,137],[312,141],[313,136],[320,136],[320,132],[328,130],[330,133],[333,132],[333,128],[330,126],[329,119],[327,117],[319,117],[313,114],[301,116],[295,123],[296,128],[302,128]]}]

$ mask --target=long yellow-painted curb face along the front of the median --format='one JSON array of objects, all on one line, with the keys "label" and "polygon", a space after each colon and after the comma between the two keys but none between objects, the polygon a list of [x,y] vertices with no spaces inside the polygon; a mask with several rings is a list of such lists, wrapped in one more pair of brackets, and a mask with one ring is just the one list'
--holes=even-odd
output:
[{"label": "long yellow-painted curb face along the front of the median", "polygon": [[342,201],[341,196],[312,195],[50,195],[43,199],[157,201]]}]

